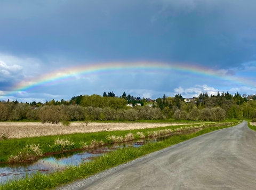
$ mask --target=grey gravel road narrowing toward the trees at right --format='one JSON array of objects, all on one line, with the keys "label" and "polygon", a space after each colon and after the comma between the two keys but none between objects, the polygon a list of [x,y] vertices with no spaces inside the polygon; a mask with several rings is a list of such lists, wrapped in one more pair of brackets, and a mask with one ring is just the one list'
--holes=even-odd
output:
[{"label": "grey gravel road narrowing toward the trees at right", "polygon": [[256,132],[213,131],[57,189],[256,189]]}]

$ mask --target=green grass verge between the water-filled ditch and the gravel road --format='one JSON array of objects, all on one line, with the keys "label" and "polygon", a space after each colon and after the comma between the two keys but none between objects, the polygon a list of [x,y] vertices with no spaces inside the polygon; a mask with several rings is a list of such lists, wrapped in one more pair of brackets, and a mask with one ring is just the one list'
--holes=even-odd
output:
[{"label": "green grass verge between the water-filled ditch and the gravel road", "polygon": [[[235,123],[232,126],[237,125]],[[97,172],[118,166],[119,164],[134,160],[143,155],[149,154],[161,150],[165,147],[169,147],[174,144],[178,144],[188,139],[210,133],[214,130],[219,130],[232,126],[221,127],[208,127],[189,135],[173,136],[161,142],[148,144],[139,148],[124,148],[115,152],[110,152],[104,156],[101,156],[94,161],[86,162],[80,166],[70,166],[65,171],[54,172],[51,175],[36,174],[33,177],[26,177],[25,179],[14,180],[5,185],[1,185],[1,190],[16,190],[16,189],[47,189],[57,187],[60,184],[69,183],[79,178],[89,177]]]}]

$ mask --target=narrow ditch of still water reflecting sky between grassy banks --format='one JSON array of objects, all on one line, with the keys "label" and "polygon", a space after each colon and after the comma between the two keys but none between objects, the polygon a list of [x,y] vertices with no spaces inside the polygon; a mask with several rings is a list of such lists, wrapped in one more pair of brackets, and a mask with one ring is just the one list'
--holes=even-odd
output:
[{"label": "narrow ditch of still water reflecting sky between grassy banks", "polygon": [[162,136],[158,138],[139,139],[134,142],[125,142],[121,144],[112,144],[98,148],[90,148],[77,152],[65,152],[43,157],[33,163],[23,164],[0,164],[0,184],[6,181],[25,178],[37,172],[42,174],[51,174],[54,171],[64,170],[68,166],[77,166],[84,162],[89,162],[93,158],[126,147],[140,147],[145,144],[155,143],[171,136]]}]

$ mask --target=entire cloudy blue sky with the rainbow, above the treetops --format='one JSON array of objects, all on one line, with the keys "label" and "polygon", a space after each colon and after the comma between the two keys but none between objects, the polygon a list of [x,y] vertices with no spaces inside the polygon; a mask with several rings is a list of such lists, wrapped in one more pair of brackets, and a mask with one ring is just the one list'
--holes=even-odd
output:
[{"label": "entire cloudy blue sky with the rainbow, above the treetops", "polygon": [[256,94],[256,1],[2,0],[0,100]]}]

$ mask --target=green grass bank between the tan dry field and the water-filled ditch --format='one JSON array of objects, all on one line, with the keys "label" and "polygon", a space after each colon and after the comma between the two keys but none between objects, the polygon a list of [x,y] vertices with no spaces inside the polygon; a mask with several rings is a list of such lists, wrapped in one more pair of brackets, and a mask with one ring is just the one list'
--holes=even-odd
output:
[{"label": "green grass bank between the tan dry field and the water-filled ditch", "polygon": [[[211,125],[223,125],[223,122],[214,122],[214,123],[206,123],[204,126]],[[77,134],[69,134],[69,135],[54,135],[54,136],[42,136],[42,137],[30,137],[30,138],[20,138],[20,139],[7,139],[5,141],[0,141],[0,161],[7,162],[10,156],[19,155],[19,153],[24,150],[26,146],[34,145],[40,148],[40,152],[42,154],[48,152],[58,152],[63,151],[59,146],[56,146],[54,142],[56,139],[65,139],[73,144],[65,147],[65,150],[74,150],[77,148],[81,148],[81,142],[83,144],[91,144],[92,141],[102,141],[103,143],[111,143],[108,136],[126,136],[129,133],[136,134],[138,132],[142,132],[147,135],[150,131],[160,131],[165,129],[179,129],[185,127],[195,127],[195,126],[203,126],[202,124],[194,124],[194,125],[182,125],[182,126],[167,126],[167,127],[157,127],[157,128],[147,128],[147,129],[135,129],[135,130],[126,130],[126,131],[101,131],[97,133],[77,133]]]}]

